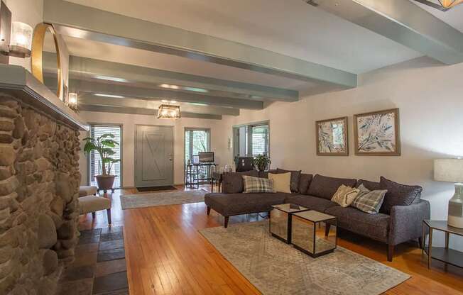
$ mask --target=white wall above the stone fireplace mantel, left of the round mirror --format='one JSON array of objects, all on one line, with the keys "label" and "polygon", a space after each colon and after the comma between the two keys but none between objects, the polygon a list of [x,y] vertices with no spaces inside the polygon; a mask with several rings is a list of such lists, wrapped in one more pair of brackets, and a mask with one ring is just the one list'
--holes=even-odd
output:
[{"label": "white wall above the stone fireplace mantel, left of the round mirror", "polygon": [[[43,21],[43,0],[6,0],[5,4],[11,11],[11,21],[21,21],[32,28]],[[31,57],[10,57],[10,64],[21,65],[31,71]]]}]

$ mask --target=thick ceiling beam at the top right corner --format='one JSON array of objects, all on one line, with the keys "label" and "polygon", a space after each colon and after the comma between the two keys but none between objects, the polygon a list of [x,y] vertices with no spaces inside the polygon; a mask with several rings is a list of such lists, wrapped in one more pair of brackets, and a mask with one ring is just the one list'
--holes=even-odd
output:
[{"label": "thick ceiling beam at the top right corner", "polygon": [[356,23],[447,65],[463,62],[463,33],[405,0],[315,0]]}]

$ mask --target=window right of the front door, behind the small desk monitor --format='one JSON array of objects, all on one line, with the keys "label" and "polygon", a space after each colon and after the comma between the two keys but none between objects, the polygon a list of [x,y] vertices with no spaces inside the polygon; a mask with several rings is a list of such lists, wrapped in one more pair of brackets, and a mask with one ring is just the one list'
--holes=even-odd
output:
[{"label": "window right of the front door, behind the small desk monitor", "polygon": [[[210,130],[185,128],[185,164],[199,152],[210,151]],[[200,168],[200,179],[208,178],[207,167]]]}]

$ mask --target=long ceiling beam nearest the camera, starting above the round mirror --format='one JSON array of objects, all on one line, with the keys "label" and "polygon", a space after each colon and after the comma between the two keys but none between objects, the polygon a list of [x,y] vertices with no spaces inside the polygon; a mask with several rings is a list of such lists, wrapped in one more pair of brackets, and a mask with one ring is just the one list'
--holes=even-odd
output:
[{"label": "long ceiling beam nearest the camera, starting above the round mirror", "polygon": [[357,86],[357,75],[271,50],[122,16],[62,0],[45,0],[43,20],[75,38],[178,55],[334,88]]}]

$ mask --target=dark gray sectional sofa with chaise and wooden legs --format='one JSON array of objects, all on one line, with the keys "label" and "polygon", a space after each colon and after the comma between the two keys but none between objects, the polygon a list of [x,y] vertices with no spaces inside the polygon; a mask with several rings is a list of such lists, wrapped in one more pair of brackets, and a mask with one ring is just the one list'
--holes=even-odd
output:
[{"label": "dark gray sectional sofa with chaise and wooden legs", "polygon": [[[283,169],[274,173],[288,172]],[[291,194],[243,194],[242,175],[267,177],[266,172],[232,172],[222,177],[222,193],[206,194],[207,214],[211,208],[224,216],[227,227],[229,216],[271,211],[272,205],[293,203],[325,212],[337,217],[339,228],[364,235],[388,245],[388,261],[392,261],[394,247],[408,240],[418,240],[420,245],[423,219],[430,218],[430,204],[420,199],[423,189],[391,182],[381,177],[380,182],[362,179],[325,177],[316,174],[291,172]],[[370,190],[387,189],[379,213],[368,214],[356,208],[343,208],[331,201],[334,192],[342,184],[364,187]]]}]

